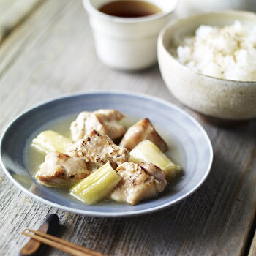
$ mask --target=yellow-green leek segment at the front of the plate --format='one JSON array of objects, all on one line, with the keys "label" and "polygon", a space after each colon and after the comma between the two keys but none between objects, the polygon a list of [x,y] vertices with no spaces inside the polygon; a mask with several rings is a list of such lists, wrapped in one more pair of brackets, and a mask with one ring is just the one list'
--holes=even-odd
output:
[{"label": "yellow-green leek segment at the front of the plate", "polygon": [[108,197],[120,180],[121,177],[108,162],[72,187],[71,195],[91,205]]}]

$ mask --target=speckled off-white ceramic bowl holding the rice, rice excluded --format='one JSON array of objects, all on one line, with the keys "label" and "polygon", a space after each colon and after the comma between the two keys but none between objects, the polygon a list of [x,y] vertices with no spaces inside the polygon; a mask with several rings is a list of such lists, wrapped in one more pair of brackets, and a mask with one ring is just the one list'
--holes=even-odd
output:
[{"label": "speckled off-white ceramic bowl holding the rice, rice excluded", "polygon": [[227,26],[235,20],[255,26],[251,12],[211,12],[177,20],[165,26],[158,39],[158,61],[168,89],[184,105],[206,116],[232,120],[256,117],[256,82],[224,80],[202,75],[180,64],[176,48],[198,26]]}]

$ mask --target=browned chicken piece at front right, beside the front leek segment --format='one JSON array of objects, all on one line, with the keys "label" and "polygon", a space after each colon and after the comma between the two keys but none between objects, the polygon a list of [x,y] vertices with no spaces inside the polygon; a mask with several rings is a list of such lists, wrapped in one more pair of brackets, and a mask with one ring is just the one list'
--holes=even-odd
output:
[{"label": "browned chicken piece at front right, beside the front leek segment", "polygon": [[151,163],[124,162],[116,170],[122,179],[110,197],[117,202],[135,205],[156,197],[167,185],[163,171]]}]

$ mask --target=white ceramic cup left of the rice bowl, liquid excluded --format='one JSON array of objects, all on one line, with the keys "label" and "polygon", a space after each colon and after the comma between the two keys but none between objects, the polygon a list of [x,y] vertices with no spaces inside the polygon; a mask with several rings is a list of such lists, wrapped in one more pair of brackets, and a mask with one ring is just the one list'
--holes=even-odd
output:
[{"label": "white ceramic cup left of the rice bowl, liquid excluded", "polygon": [[157,36],[172,17],[177,0],[148,0],[162,9],[141,18],[118,18],[99,12],[110,0],[83,0],[89,13],[99,59],[114,69],[138,70],[157,62]]}]

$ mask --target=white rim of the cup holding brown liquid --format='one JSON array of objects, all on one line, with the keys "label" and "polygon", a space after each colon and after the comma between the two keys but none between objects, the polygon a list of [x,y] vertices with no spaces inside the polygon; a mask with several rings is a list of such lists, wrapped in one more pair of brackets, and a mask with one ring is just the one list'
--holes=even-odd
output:
[{"label": "white rim of the cup holding brown liquid", "polygon": [[173,7],[170,8],[168,11],[158,12],[154,15],[148,15],[138,18],[121,18],[117,16],[111,16],[108,14],[105,14],[104,12],[100,12],[91,4],[91,0],[82,0],[83,1],[83,7],[84,9],[92,15],[95,15],[97,18],[102,18],[102,20],[108,20],[112,21],[114,23],[145,23],[153,20],[159,20],[161,18],[165,18],[168,15],[172,14],[174,10],[176,10],[176,7],[178,6],[178,0],[172,0],[173,1]]}]

